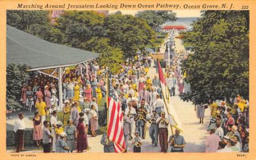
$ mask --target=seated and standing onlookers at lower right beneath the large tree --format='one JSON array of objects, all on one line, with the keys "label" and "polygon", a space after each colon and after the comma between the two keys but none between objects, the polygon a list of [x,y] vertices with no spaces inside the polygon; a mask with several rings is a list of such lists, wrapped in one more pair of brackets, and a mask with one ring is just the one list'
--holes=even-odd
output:
[{"label": "seated and standing onlookers at lower right beneath the large tree", "polygon": [[[249,152],[249,104],[237,95],[233,106],[225,101],[209,105],[211,121],[207,127],[209,136],[205,141],[205,152]],[[200,123],[204,123],[205,105],[197,105]]]}]

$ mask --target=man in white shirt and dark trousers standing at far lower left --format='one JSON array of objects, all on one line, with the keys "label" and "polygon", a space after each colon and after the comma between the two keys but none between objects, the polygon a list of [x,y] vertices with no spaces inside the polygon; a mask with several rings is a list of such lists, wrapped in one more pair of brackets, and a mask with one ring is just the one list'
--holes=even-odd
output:
[{"label": "man in white shirt and dark trousers standing at far lower left", "polygon": [[26,125],[24,122],[24,113],[19,113],[19,118],[15,121],[13,131],[15,132],[15,141],[16,141],[16,152],[24,150],[24,131]]}]

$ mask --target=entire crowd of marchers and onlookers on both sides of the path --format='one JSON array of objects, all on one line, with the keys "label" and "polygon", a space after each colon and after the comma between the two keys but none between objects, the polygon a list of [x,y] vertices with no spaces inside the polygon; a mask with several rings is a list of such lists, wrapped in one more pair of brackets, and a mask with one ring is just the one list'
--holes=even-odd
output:
[{"label": "entire crowd of marchers and onlookers on both sides of the path", "polygon": [[[172,65],[164,70],[170,96],[190,90],[189,84],[184,81],[186,74],[182,75],[180,68],[182,58],[183,56],[176,56]],[[118,95],[124,115],[125,152],[129,141],[134,145],[134,152],[141,152],[147,125],[150,125],[152,147],[160,145],[160,152],[167,152],[170,146],[171,152],[184,152],[186,142],[179,129],[168,140],[169,122],[165,118],[160,81],[158,75],[149,77],[151,65],[158,72],[157,61],[153,61],[152,56],[135,56],[132,63],[125,62],[122,70],[111,76],[111,84]],[[106,101],[103,100],[106,99],[107,90],[106,68],[99,67],[96,61],[86,67],[80,65],[72,69],[66,68],[61,99],[64,105],[59,108],[56,84],[56,79],[40,75],[32,77],[31,82],[24,84],[22,88],[20,101],[24,108],[27,108],[29,99],[36,108],[33,140],[38,147],[43,144],[44,152],[84,152],[88,148],[88,131],[92,137],[98,136],[99,106],[104,106]],[[179,93],[175,92],[177,90]],[[202,124],[205,109],[211,109],[211,122],[207,129],[210,136],[205,141],[205,152],[248,152],[246,103],[248,102],[237,96],[232,107],[227,107],[224,101],[196,105],[196,113]],[[58,116],[60,113],[61,118]],[[17,134],[20,139],[22,132]],[[106,132],[100,143],[104,145],[104,152],[115,152],[114,144],[108,140]],[[17,152],[22,149],[22,143],[19,143]]]}]

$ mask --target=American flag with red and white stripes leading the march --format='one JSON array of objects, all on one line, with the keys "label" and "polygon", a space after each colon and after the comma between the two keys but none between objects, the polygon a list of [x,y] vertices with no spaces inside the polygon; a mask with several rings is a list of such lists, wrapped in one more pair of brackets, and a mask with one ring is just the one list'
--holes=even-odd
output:
[{"label": "American flag with red and white stripes leading the march", "polygon": [[[108,75],[108,74],[107,74]],[[108,76],[108,138],[113,141],[115,152],[124,152],[125,140],[123,130],[123,114],[118,95]]]}]

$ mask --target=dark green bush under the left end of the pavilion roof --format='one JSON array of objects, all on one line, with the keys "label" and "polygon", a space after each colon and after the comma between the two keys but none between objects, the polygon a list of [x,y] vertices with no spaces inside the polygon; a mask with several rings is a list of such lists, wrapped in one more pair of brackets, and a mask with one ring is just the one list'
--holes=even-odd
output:
[{"label": "dark green bush under the left end of the pavilion roof", "polygon": [[20,109],[22,84],[29,77],[27,65],[10,64],[6,68],[6,102],[11,110]]}]

